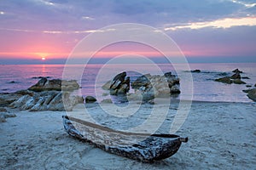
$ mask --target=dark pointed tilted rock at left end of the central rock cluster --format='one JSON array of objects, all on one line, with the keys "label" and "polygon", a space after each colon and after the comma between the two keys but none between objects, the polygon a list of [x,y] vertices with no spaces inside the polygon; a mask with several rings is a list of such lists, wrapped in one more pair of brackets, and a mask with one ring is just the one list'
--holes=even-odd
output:
[{"label": "dark pointed tilted rock at left end of the central rock cluster", "polygon": [[130,77],[126,77],[126,72],[119,73],[113,77],[110,82],[109,93],[110,95],[124,95],[130,90]]}]

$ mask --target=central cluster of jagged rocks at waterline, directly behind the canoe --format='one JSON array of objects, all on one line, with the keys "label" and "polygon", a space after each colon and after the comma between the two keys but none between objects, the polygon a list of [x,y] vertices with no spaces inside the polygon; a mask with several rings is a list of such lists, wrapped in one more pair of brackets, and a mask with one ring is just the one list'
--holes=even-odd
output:
[{"label": "central cluster of jagged rocks at waterline, directly behind the canoe", "polygon": [[[131,82],[131,88],[135,89],[135,94],[129,94],[129,99],[143,99],[149,101],[156,97],[168,97],[180,94],[178,87],[179,79],[166,72],[163,76],[151,76],[150,74],[137,77]],[[130,77],[126,77],[126,72],[119,73],[112,81],[106,82],[103,89],[109,90],[110,95],[125,95],[130,90]]]}]

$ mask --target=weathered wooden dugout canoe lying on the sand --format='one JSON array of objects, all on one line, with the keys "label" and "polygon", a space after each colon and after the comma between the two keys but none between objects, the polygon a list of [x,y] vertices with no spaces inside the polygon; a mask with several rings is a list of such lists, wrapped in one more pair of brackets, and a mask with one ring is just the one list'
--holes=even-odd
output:
[{"label": "weathered wooden dugout canoe lying on the sand", "polygon": [[174,134],[127,133],[92,122],[62,116],[67,133],[118,156],[138,161],[160,161],[177,152],[188,141]]}]

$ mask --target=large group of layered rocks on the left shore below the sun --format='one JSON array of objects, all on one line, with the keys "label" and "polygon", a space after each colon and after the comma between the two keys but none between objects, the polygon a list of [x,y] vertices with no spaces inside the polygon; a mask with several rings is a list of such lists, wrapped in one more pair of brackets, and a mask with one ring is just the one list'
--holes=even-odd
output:
[{"label": "large group of layered rocks on the left shore below the sun", "polygon": [[27,90],[1,94],[0,106],[21,111],[72,111],[74,105],[84,102],[82,97],[72,94],[75,89],[79,89],[76,81],[48,80],[44,77]]}]

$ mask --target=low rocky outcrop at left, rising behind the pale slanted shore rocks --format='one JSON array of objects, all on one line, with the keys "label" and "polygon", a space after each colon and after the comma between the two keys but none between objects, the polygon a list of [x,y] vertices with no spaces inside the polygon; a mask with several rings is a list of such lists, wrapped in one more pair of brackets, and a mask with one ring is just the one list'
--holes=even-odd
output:
[{"label": "low rocky outcrop at left, rising behind the pale slanted shore rocks", "polygon": [[73,91],[79,89],[79,83],[75,80],[61,80],[61,79],[53,79],[48,80],[47,78],[41,78],[38,83],[28,88],[28,90],[34,92],[43,92],[43,91]]}]

